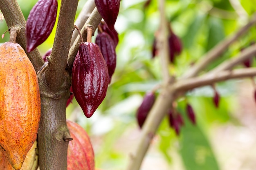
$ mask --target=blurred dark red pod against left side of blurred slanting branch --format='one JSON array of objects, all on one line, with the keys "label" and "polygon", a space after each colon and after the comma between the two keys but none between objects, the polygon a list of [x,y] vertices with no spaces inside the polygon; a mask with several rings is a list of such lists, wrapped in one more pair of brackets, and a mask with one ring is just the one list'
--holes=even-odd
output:
[{"label": "blurred dark red pod against left side of blurred slanting branch", "polygon": [[140,128],[142,128],[144,121],[146,120],[146,117],[148,116],[148,113],[152,108],[154,102],[155,102],[155,94],[153,92],[146,93],[136,114],[137,121]]}]

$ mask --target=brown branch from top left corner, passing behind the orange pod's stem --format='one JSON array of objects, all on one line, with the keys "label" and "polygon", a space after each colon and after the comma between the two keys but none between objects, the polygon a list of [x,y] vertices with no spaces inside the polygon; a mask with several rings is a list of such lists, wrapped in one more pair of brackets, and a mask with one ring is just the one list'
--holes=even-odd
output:
[{"label": "brown branch from top left corner, passing behind the orange pod's stem", "polygon": [[[0,0],[0,10],[4,15],[4,19],[6,20],[9,29],[12,26],[20,26],[22,28],[18,33],[16,42],[20,44],[27,53],[25,36],[26,21],[18,2],[16,0]],[[37,72],[44,64],[39,51],[35,49],[34,51],[31,51],[31,53],[27,53],[27,56]]]}]

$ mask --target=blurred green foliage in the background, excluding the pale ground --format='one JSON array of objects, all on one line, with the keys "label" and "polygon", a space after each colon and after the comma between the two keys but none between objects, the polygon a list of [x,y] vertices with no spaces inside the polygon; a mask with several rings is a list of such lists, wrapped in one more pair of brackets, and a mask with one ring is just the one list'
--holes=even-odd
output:
[{"label": "blurred green foliage in the background, excluding the pale ground", "polygon": [[[18,0],[18,2],[27,19],[29,11],[37,1]],[[59,4],[60,2],[61,0],[58,0]],[[86,0],[79,1],[77,15],[85,2]],[[130,132],[129,136],[132,135],[132,130],[137,130],[138,133],[136,109],[143,95],[162,81],[159,57],[152,59],[151,55],[155,31],[159,29],[157,0],[152,0],[147,8],[144,8],[144,3],[145,0],[121,1],[120,13],[115,25],[119,32],[119,44],[116,49],[117,68],[107,96],[99,109],[87,119],[75,100],[67,107],[67,118],[81,124],[95,142],[93,144],[96,166],[106,170],[121,170],[126,166],[128,155],[116,147],[117,142],[127,137],[124,134],[128,132]],[[248,16],[256,11],[255,0],[240,0],[240,3]],[[216,13],[216,11],[221,12]],[[182,75],[191,64],[200,60],[204,53],[246,22],[238,17],[228,0],[166,0],[166,17],[173,31],[181,38],[184,48],[176,57],[175,64],[170,66],[171,73],[177,76]],[[7,30],[4,21],[0,22],[0,30],[2,33]],[[52,47],[55,30],[56,25],[49,38],[38,47],[42,55]],[[254,26],[206,70],[239,53],[242,47],[256,41],[255,37]],[[9,35],[6,33],[0,42],[6,42],[8,39]],[[186,99],[177,100],[178,110],[185,119],[180,137],[177,137],[174,130],[169,127],[167,119],[164,119],[159,127],[157,134],[159,151],[170,165],[175,163],[170,154],[174,150],[180,153],[185,170],[220,169],[216,160],[218,155],[214,155],[208,132],[215,124],[234,121],[232,112],[237,107],[234,95],[236,81],[223,82],[216,86],[221,96],[219,108],[213,106],[213,90],[208,86],[190,91]],[[191,125],[186,118],[184,110],[186,102],[189,102],[195,110],[196,126]],[[134,137],[138,136],[135,134]],[[175,142],[180,144],[179,148],[175,148]]]}]

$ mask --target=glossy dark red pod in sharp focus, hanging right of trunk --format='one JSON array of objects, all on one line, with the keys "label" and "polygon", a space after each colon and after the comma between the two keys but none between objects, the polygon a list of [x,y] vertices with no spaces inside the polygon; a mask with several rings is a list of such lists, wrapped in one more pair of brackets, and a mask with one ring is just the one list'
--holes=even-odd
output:
[{"label": "glossy dark red pod in sharp focus, hanging right of trunk", "polygon": [[81,44],[72,68],[72,88],[86,117],[91,117],[106,97],[108,82],[108,66],[97,44]]}]

